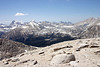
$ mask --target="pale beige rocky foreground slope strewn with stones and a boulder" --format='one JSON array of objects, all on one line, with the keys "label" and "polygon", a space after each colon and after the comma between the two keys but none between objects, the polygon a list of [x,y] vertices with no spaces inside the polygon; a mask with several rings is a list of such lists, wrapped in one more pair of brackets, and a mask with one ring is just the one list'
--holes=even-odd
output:
[{"label": "pale beige rocky foreground slope strewn with stones and a boulder", "polygon": [[65,41],[0,61],[0,67],[100,67],[100,38]]}]

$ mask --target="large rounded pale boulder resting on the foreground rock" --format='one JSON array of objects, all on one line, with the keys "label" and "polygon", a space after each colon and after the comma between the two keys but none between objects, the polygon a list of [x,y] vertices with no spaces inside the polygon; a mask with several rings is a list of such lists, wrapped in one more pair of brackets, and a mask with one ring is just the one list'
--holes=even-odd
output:
[{"label": "large rounded pale boulder resting on the foreground rock", "polygon": [[60,54],[53,57],[51,60],[51,65],[65,64],[70,61],[75,61],[75,56],[73,54]]}]

